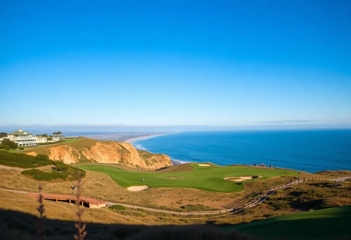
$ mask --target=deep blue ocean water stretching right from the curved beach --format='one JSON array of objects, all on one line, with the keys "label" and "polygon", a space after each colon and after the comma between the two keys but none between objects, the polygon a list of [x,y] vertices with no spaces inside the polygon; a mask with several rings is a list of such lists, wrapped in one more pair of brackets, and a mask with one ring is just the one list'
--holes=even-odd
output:
[{"label": "deep blue ocean water stretching right from the curved beach", "polygon": [[133,142],[173,161],[351,170],[351,130],[184,132]]}]

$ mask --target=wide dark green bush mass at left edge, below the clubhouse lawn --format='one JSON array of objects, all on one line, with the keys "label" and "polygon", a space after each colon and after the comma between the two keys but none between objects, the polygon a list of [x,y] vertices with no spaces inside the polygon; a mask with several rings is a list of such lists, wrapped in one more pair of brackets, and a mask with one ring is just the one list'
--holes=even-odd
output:
[{"label": "wide dark green bush mass at left edge, below the clubhouse lawn", "polygon": [[0,165],[20,168],[34,168],[53,164],[53,161],[48,159],[45,161],[37,161],[35,156],[25,153],[11,153],[0,151]]}]

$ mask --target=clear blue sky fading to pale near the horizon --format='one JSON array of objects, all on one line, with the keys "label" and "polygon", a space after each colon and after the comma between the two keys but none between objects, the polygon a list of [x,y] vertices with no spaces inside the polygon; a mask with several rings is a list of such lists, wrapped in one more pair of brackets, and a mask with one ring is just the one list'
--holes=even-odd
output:
[{"label": "clear blue sky fading to pale near the horizon", "polygon": [[1,1],[0,125],[349,124],[350,9]]}]

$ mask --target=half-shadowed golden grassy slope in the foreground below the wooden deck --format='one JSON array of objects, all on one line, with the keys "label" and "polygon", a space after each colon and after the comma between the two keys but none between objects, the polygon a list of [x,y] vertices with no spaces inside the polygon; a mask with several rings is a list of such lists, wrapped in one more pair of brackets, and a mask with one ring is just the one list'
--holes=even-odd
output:
[{"label": "half-shadowed golden grassy slope in the foreground below the wooden deck", "polygon": [[[0,239],[38,239],[38,202],[20,193],[0,190]],[[44,200],[47,239],[73,239],[77,233],[77,207],[66,202]],[[82,221],[87,224],[86,240],[136,239],[237,239],[255,238],[237,231],[223,231],[216,226],[191,225],[179,219],[158,218],[143,213],[117,213],[103,208],[84,208]],[[177,226],[183,225],[183,226]]]}]

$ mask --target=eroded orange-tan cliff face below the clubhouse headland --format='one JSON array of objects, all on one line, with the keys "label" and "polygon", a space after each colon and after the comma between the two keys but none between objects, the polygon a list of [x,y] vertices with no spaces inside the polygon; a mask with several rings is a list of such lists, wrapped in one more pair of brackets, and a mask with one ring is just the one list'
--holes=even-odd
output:
[{"label": "eroded orange-tan cliff face below the clubhouse headland", "polygon": [[[44,149],[43,149],[44,148]],[[28,151],[29,155],[37,155],[46,151],[52,160],[60,160],[66,164],[75,162],[118,163],[137,168],[160,168],[172,165],[170,157],[165,154],[153,154],[137,150],[125,142],[98,141],[82,138],[77,142],[40,146]]]}]

